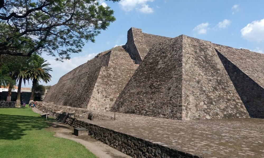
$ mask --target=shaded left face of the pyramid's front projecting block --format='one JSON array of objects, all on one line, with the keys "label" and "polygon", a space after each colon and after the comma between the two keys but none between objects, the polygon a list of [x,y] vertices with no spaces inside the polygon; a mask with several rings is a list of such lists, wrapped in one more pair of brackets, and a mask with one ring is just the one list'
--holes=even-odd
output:
[{"label": "shaded left face of the pyramid's front projecting block", "polygon": [[114,108],[139,115],[181,118],[182,36],[156,44],[139,65]]}]

